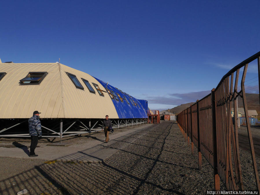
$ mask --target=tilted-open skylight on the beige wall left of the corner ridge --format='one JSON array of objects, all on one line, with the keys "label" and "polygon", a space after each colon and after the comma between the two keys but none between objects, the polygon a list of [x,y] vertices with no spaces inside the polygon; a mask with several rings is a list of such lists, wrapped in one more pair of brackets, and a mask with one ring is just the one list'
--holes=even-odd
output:
[{"label": "tilted-open skylight on the beige wall left of the corner ridge", "polygon": [[20,85],[38,85],[43,81],[47,74],[47,72],[29,72],[19,83]]}]

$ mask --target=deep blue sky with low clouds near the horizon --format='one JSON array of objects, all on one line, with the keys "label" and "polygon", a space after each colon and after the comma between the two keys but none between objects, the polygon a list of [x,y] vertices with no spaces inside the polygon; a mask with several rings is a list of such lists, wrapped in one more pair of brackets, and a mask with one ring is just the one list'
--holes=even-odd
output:
[{"label": "deep blue sky with low clouds near the horizon", "polygon": [[[260,51],[260,1],[3,1],[2,62],[60,62],[150,109],[194,102]],[[257,77],[250,65],[248,80]],[[246,79],[246,80],[247,80]],[[250,80],[248,92],[256,92]],[[250,88],[251,87],[251,88]]]}]

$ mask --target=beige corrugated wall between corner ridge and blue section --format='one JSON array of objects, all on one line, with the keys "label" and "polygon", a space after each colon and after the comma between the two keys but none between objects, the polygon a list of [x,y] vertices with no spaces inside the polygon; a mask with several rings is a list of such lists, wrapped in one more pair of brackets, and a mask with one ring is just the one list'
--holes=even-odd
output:
[{"label": "beige corrugated wall between corner ridge and blue section", "polygon": [[[66,72],[76,75],[84,90],[76,88]],[[99,84],[94,77],[61,64],[61,78],[65,118],[105,118],[106,115],[110,118],[118,118],[109,94],[104,92],[104,96],[100,96],[94,88],[92,83]],[[89,92],[81,78],[89,81],[95,94]],[[101,85],[99,88],[105,91]]]}]

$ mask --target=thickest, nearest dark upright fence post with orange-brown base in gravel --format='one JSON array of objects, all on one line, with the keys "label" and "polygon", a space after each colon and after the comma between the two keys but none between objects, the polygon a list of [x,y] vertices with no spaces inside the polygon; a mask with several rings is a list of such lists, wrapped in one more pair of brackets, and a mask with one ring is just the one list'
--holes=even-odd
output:
[{"label": "thickest, nearest dark upright fence post with orange-brown base in gravel", "polygon": [[220,176],[217,171],[217,127],[216,127],[216,104],[215,104],[215,88],[211,90],[212,101],[212,130],[213,130],[213,157],[214,157],[214,180],[215,190],[220,190]]}]

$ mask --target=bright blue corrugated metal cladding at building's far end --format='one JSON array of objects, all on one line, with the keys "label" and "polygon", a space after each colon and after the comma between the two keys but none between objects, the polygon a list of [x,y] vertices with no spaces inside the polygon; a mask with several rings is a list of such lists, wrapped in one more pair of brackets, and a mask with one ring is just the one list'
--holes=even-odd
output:
[{"label": "bright blue corrugated metal cladding at building's far end", "polygon": [[[97,78],[95,78],[95,79],[97,79]],[[99,81],[99,83],[101,83],[102,86],[104,88],[106,88],[106,83],[104,81],[101,81],[99,79],[97,79],[97,81]],[[128,104],[126,102],[126,100],[123,100],[123,102],[121,102],[120,100],[117,101],[115,99],[110,98],[114,103],[114,106],[115,106],[115,109],[117,111],[119,118],[148,118],[146,111],[144,110],[143,106],[136,98],[122,93],[120,90],[116,89],[115,87],[113,87],[109,84],[108,84],[108,90],[112,90],[115,93],[118,93],[122,98],[124,98],[124,96],[126,96],[126,98],[128,99],[128,101],[130,103],[130,104]],[[139,106],[132,105],[132,103],[129,100],[129,97],[132,98]]]}]

